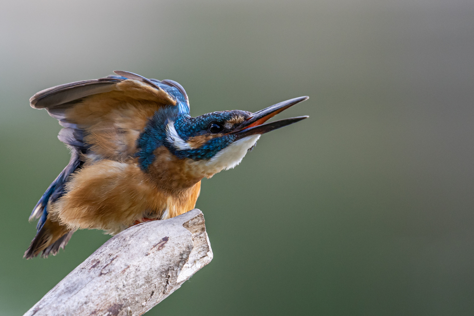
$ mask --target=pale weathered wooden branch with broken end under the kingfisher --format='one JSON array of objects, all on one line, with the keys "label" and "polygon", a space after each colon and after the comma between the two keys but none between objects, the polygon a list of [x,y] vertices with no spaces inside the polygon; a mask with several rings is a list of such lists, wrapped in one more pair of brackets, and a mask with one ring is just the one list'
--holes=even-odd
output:
[{"label": "pale weathered wooden branch with broken end under the kingfisher", "polygon": [[25,315],[142,315],[212,260],[199,209],[112,237]]}]

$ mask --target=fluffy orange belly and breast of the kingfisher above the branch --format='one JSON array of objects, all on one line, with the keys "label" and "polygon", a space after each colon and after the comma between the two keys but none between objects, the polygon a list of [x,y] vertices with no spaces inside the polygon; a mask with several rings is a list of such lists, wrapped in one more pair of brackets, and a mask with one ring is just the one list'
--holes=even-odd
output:
[{"label": "fluffy orange belly and breast of the kingfisher above the branch", "polygon": [[143,217],[166,219],[191,210],[200,190],[201,181],[167,190],[136,163],[104,159],[73,174],[51,215],[72,230],[97,228],[115,235]]}]

